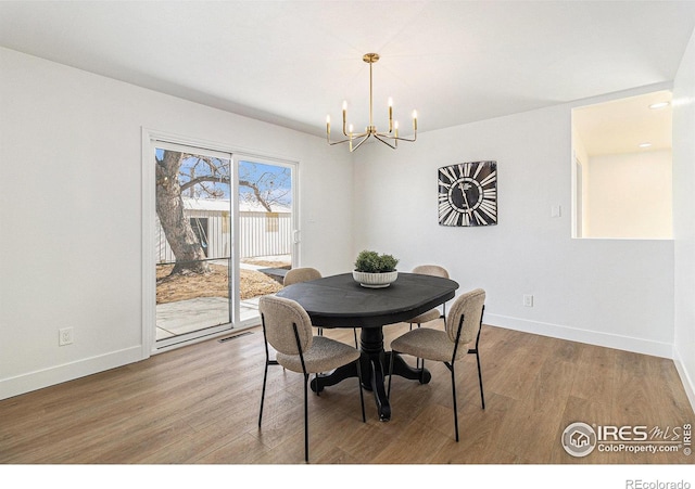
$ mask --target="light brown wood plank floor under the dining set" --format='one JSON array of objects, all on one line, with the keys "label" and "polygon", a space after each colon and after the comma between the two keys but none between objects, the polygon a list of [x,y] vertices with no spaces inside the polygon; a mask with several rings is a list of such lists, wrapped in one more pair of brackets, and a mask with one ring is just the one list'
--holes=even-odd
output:
[{"label": "light brown wood plank floor under the dining set", "polygon": [[[384,329],[387,345],[406,327]],[[302,375],[270,368],[258,429],[263,334],[245,333],[0,401],[0,463],[302,464]],[[353,342],[352,331],[326,330],[326,335]],[[388,423],[379,422],[368,391],[367,423],[362,423],[356,381],[309,395],[311,462],[695,462],[683,450],[594,450],[574,458],[561,446],[563,432],[573,422],[661,430],[694,424],[670,360],[483,326],[482,410],[475,358],[468,357],[457,368],[458,443],[448,371],[428,363],[432,382],[427,385],[394,377]]]}]

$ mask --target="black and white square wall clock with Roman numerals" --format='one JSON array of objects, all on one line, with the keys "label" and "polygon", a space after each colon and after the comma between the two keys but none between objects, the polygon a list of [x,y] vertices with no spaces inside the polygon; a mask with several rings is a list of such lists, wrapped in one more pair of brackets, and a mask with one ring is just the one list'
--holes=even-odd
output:
[{"label": "black and white square wall clock with Roman numerals", "polygon": [[472,162],[439,169],[439,223],[497,223],[497,162]]}]

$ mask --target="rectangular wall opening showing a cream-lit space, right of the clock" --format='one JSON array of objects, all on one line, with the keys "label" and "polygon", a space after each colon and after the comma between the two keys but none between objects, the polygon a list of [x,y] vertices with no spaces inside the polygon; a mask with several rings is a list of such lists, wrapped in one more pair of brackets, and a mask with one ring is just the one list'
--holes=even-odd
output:
[{"label": "rectangular wall opening showing a cream-lit space, right of the clock", "polygon": [[572,110],[572,237],[672,239],[671,92]]}]

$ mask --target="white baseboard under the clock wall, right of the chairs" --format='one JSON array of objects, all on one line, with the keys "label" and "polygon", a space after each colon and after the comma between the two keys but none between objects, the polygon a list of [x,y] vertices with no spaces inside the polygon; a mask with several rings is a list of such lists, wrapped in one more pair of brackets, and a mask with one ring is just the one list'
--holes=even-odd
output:
[{"label": "white baseboard under the clock wall, right of the chairs", "polygon": [[579,330],[577,327],[528,321],[525,319],[500,314],[485,313],[483,322],[494,326],[506,327],[507,330],[522,331],[525,333],[532,333],[541,336],[551,336],[570,342],[586,343],[589,345],[633,351],[635,353],[652,355],[654,357],[673,358],[673,345],[670,343],[653,342],[649,339],[602,333],[597,331]]}]

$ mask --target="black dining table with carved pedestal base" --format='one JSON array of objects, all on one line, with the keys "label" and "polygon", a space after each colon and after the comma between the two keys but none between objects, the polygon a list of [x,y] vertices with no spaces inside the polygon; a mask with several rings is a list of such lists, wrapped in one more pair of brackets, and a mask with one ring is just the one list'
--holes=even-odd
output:
[{"label": "black dining table with carved pedestal base", "polygon": [[[388,287],[372,288],[355,282],[352,273],[325,276],[288,285],[277,293],[298,301],[317,327],[359,327],[361,370],[363,386],[371,390],[381,421],[391,419],[391,404],[384,388],[391,351],[383,346],[383,326],[421,314],[454,298],[458,283],[440,276],[399,272]],[[329,374],[317,375],[312,390],[356,377],[354,363]],[[393,358],[393,375],[428,383],[431,374],[425,369],[410,368],[400,356]]]}]

